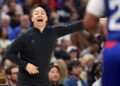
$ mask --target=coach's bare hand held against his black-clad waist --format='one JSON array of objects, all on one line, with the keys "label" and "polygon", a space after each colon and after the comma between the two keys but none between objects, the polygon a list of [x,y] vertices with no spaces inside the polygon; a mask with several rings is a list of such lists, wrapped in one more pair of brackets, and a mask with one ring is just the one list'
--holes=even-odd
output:
[{"label": "coach's bare hand held against his black-clad waist", "polygon": [[37,74],[39,73],[38,71],[38,67],[36,67],[35,65],[28,63],[26,66],[26,70],[29,74]]}]

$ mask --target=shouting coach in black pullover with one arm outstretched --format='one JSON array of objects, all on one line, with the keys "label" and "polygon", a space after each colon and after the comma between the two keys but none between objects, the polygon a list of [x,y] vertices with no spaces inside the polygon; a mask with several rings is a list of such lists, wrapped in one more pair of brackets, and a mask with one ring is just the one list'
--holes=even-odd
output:
[{"label": "shouting coach in black pullover with one arm outstretched", "polygon": [[81,30],[82,21],[47,27],[48,18],[41,7],[33,10],[31,19],[34,27],[20,35],[5,56],[20,67],[18,86],[49,86],[48,67],[56,39]]}]

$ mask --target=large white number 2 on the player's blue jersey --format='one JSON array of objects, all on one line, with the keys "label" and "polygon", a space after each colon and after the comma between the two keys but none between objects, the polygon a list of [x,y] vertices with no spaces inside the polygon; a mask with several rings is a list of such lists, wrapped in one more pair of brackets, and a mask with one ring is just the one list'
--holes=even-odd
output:
[{"label": "large white number 2 on the player's blue jersey", "polygon": [[120,22],[117,22],[120,19],[120,1],[109,0],[109,8],[110,10],[117,9],[109,18],[109,29],[111,31],[120,31]]}]

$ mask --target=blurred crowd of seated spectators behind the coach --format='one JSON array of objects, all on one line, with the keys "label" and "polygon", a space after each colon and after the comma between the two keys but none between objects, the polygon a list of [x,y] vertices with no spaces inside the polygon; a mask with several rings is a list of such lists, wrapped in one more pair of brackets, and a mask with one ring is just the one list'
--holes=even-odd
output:
[{"label": "blurred crowd of seated spectators behind the coach", "polygon": [[[9,45],[32,28],[31,12],[43,7],[47,25],[69,24],[84,17],[88,0],[0,0],[0,84],[16,86],[18,66],[4,58]],[[105,19],[100,19],[103,25]],[[105,27],[75,32],[56,41],[48,77],[53,86],[100,86]],[[49,43],[48,43],[49,44]],[[77,77],[77,78],[76,78]],[[72,83],[70,85],[69,83]]]}]

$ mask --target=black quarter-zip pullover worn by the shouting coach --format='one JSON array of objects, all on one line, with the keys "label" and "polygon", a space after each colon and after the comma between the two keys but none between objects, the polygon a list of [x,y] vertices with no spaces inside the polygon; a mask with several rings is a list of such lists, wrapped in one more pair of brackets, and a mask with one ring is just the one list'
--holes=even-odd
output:
[{"label": "black quarter-zip pullover worn by the shouting coach", "polygon": [[[48,26],[43,32],[33,27],[20,35],[10,46],[5,57],[19,65],[20,73],[26,77],[40,80],[47,78],[52,49],[58,37],[83,29],[83,21],[62,26]],[[19,55],[18,55],[19,53]],[[39,67],[39,74],[29,75],[25,70],[27,63]]]}]

